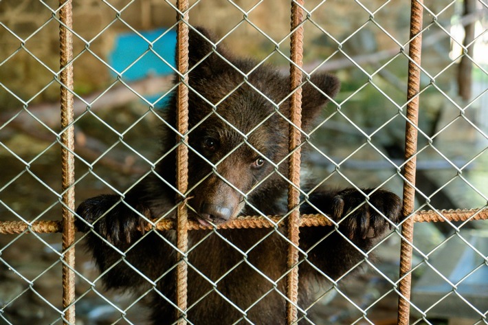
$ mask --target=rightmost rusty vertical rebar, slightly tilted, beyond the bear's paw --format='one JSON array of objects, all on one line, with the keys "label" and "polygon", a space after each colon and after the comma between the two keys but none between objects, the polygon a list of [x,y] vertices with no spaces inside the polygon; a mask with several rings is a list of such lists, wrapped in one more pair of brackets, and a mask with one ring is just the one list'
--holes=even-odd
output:
[{"label": "rightmost rusty vertical rebar, slightly tilted, beyond the bear's paw", "polygon": [[[419,122],[420,64],[422,52],[423,0],[412,0],[410,13],[410,47],[408,56],[408,104],[405,134],[405,179],[403,185],[403,215],[414,212],[415,175],[417,168],[417,125]],[[412,240],[414,216],[411,215],[401,227],[403,239],[400,252],[400,282],[398,324],[407,325],[410,318],[410,289],[412,285]]]}]

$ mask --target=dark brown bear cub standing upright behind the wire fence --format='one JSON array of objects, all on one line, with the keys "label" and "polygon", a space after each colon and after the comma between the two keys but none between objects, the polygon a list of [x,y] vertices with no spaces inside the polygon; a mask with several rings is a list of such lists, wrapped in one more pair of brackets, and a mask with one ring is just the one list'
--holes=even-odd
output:
[{"label": "dark brown bear cub standing upright behind the wire fence", "polygon": [[[188,217],[219,225],[238,215],[283,215],[289,77],[269,65],[236,58],[216,41],[206,30],[190,27]],[[302,85],[305,132],[339,87],[337,78],[325,73],[313,74]],[[163,113],[156,171],[124,197],[101,195],[76,210],[78,229],[87,232],[87,247],[106,287],[148,291],[153,324],[173,324],[177,315],[175,231],[141,231],[150,218],[175,218],[175,110],[173,98]],[[311,288],[357,269],[364,251],[399,221],[400,207],[399,197],[381,189],[319,187],[302,198],[301,213],[326,214],[338,224],[300,228],[300,324],[309,324],[307,311],[317,291]],[[280,227],[188,232],[186,320],[284,324],[284,234]]]}]

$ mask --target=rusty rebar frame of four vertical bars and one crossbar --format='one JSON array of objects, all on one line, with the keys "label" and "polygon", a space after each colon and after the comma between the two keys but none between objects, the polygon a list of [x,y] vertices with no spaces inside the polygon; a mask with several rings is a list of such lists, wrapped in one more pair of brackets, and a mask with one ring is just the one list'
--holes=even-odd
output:
[{"label": "rusty rebar frame of four vertical bars and one crossbar", "polygon": [[[24,232],[62,232],[63,234],[63,323],[75,323],[75,295],[74,295],[74,90],[73,90],[73,21],[71,0],[60,0],[57,10],[59,19],[55,18],[60,26],[60,72],[55,79],[60,84],[61,98],[61,126],[58,142],[62,146],[63,164],[63,192],[60,202],[63,206],[62,221],[0,221],[0,234],[21,234]],[[287,324],[297,320],[298,301],[298,234],[300,227],[331,225],[329,219],[321,215],[302,215],[296,207],[299,203],[300,191],[300,112],[301,112],[301,84],[302,84],[302,51],[303,51],[303,25],[307,17],[304,15],[304,1],[291,1],[291,55],[290,55],[290,89],[291,89],[291,121],[289,128],[289,214],[286,218],[289,229],[289,254],[287,274]],[[443,222],[443,221],[473,221],[488,220],[487,210],[425,210],[414,209],[415,175],[417,169],[417,126],[419,120],[419,97],[421,67],[422,34],[428,27],[423,27],[422,0],[411,1],[410,14],[410,40],[402,45],[408,47],[408,104],[406,109],[406,153],[405,161],[397,169],[400,175],[404,169],[403,178],[403,216],[405,221],[401,224],[401,264],[400,280],[395,287],[399,295],[398,324],[409,323],[410,317],[410,291],[412,276],[412,248],[413,225],[416,222]],[[178,16],[177,23],[177,131],[179,145],[177,146],[177,190],[181,196],[181,203],[177,208],[177,221],[161,220],[157,229],[177,229],[177,249],[180,262],[177,265],[177,306],[181,315],[187,309],[186,302],[186,251],[188,249],[188,230],[199,229],[200,225],[187,220],[185,193],[188,190],[188,26],[190,24],[188,0],[178,0],[175,11]],[[435,20],[434,20],[435,23]],[[465,56],[469,56],[465,47]],[[283,220],[282,216],[240,217],[229,221],[221,228],[234,227],[274,227]],[[184,317],[180,317],[179,324],[186,324]]]}]

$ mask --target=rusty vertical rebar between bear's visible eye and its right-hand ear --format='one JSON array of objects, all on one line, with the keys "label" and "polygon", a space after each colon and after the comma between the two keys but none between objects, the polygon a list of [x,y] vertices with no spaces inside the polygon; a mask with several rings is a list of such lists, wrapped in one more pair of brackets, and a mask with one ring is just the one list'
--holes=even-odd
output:
[{"label": "rusty vertical rebar between bear's visible eye and its right-hand ear", "polygon": [[[288,249],[287,266],[287,324],[298,320],[298,244],[300,240],[300,128],[302,126],[302,71],[303,65],[303,0],[291,1],[291,49],[290,49],[290,99],[291,124],[289,126],[289,169],[288,177],[288,238],[291,242]],[[300,87],[300,88],[299,88]]]}]

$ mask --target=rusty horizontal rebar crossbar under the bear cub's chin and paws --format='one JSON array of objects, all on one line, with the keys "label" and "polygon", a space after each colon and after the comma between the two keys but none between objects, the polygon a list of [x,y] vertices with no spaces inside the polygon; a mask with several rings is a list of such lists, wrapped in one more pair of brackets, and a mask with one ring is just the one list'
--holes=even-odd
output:
[{"label": "rusty horizontal rebar crossbar under the bear cub's chin and paws", "polygon": [[[441,214],[441,215],[439,215]],[[217,229],[245,229],[245,228],[271,228],[274,227],[283,217],[282,216],[239,216],[222,225]],[[414,222],[443,222],[443,221],[470,221],[488,220],[488,210],[469,209],[469,210],[423,210],[414,216]],[[286,220],[286,218],[285,218]],[[283,221],[282,221],[283,223]],[[280,223],[279,226],[282,226]],[[317,227],[333,225],[333,223],[322,214],[302,214],[300,216],[300,227]],[[151,225],[147,227],[151,229]],[[175,220],[163,219],[156,224],[157,230],[175,229]],[[197,221],[188,220],[188,230],[212,229],[210,226],[203,226]],[[23,221],[0,221],[0,234],[21,234],[23,232],[36,232],[38,234],[49,234],[61,232],[63,226],[61,221],[34,221],[29,225]]]}]

